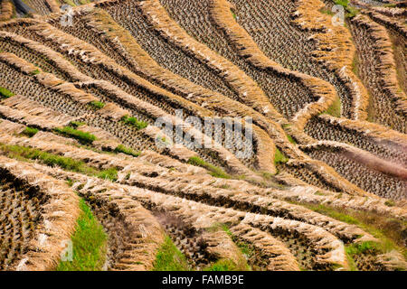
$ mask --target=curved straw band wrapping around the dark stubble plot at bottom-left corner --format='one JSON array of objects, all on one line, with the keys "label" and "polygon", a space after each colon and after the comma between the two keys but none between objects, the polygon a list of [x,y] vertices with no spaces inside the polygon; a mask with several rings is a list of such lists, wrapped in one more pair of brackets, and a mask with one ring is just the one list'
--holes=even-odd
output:
[{"label": "curved straw band wrapping around the dark stubble plot at bottom-left corner", "polygon": [[43,193],[47,200],[42,206],[40,224],[36,226],[33,238],[10,267],[18,271],[49,271],[60,259],[63,241],[71,238],[80,215],[79,198],[66,182],[56,180],[27,163],[20,163],[0,156],[0,171],[4,176],[10,173],[19,182]]}]

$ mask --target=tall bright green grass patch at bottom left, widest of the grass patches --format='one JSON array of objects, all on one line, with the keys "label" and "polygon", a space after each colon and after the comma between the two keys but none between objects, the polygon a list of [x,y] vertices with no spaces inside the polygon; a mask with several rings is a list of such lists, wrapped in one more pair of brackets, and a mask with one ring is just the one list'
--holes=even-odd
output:
[{"label": "tall bright green grass patch at bottom left, widest of the grass patches", "polygon": [[108,235],[80,199],[80,218],[71,237],[72,260],[61,261],[57,271],[100,271],[106,261]]}]

